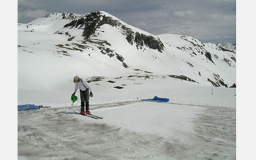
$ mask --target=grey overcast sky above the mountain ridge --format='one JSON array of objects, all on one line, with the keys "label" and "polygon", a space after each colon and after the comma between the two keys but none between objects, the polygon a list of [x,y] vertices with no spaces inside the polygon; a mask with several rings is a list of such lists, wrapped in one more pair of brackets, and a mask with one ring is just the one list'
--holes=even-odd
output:
[{"label": "grey overcast sky above the mountain ridge", "polygon": [[154,35],[236,41],[236,0],[18,0],[18,23],[29,23],[50,12],[98,10]]}]

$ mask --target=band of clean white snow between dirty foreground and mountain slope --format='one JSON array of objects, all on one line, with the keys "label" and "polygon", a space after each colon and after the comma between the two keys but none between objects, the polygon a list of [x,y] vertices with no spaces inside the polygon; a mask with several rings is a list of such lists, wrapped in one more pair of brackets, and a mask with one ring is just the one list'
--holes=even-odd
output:
[{"label": "band of clean white snow between dirty foreground and mountain slope", "polygon": [[[89,85],[94,97],[91,97],[90,103],[140,100],[157,95],[170,98],[170,102],[173,103],[236,107],[236,89],[203,86],[189,81],[172,79],[169,76],[154,76],[144,73],[144,71],[134,71],[131,76],[102,77],[99,81],[91,81]],[[83,76],[81,78],[91,79]],[[50,84],[51,88],[45,89],[18,89],[18,104],[34,103],[52,107],[72,105],[70,96],[75,89],[72,76],[61,79],[58,83]],[[123,88],[116,89],[114,87]],[[74,105],[80,105],[79,92],[76,95],[78,101]]]}]

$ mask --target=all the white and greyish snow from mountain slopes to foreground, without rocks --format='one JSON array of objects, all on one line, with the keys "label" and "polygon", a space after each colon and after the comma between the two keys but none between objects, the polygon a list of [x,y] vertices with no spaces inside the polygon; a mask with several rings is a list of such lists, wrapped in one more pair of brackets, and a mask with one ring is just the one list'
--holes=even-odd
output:
[{"label": "all the white and greyish snow from mountain slopes to foreground, without rocks", "polygon": [[[91,39],[108,41],[129,65],[124,68],[94,44],[83,52],[58,47],[83,41],[83,30],[63,28],[70,20],[59,16],[18,24],[18,105],[51,106],[18,112],[18,159],[236,159],[236,88],[212,87],[207,81],[218,73],[228,85],[236,83],[236,63],[230,59],[236,55],[204,44],[216,55],[213,65],[204,55],[191,57],[191,50],[178,49],[197,51],[194,45],[203,44],[172,34],[159,35],[163,53],[138,50],[118,28],[102,25]],[[65,32],[75,38],[67,41]],[[76,75],[94,80],[89,83],[91,112],[104,119],[74,113],[80,109],[79,99],[70,100]],[[170,102],[141,101],[155,95]]]}]

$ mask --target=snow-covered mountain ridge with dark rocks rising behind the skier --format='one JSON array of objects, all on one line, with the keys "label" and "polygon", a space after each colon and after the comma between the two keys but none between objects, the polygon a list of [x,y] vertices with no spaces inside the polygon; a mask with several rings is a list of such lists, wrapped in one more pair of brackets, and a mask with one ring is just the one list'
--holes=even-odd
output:
[{"label": "snow-covered mountain ridge with dark rocks rising behind the skier", "polygon": [[190,36],[155,36],[102,11],[50,13],[18,24],[19,89],[62,87],[75,75],[158,75],[231,87],[236,52]]}]

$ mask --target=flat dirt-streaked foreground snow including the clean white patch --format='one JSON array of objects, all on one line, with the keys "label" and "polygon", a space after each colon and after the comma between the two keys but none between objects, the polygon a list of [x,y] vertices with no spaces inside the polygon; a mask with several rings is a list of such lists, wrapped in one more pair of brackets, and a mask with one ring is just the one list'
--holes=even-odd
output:
[{"label": "flat dirt-streaked foreground snow including the clean white patch", "polygon": [[92,105],[102,120],[74,113],[78,108],[20,111],[18,157],[236,159],[234,108],[146,101]]}]

